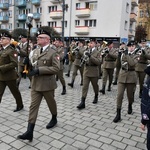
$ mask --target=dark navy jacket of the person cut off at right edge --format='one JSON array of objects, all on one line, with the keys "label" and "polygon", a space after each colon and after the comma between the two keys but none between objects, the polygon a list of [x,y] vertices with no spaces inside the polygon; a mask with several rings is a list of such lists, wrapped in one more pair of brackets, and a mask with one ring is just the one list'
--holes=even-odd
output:
[{"label": "dark navy jacket of the person cut off at right edge", "polygon": [[143,85],[143,95],[141,99],[141,123],[150,123],[150,78]]}]

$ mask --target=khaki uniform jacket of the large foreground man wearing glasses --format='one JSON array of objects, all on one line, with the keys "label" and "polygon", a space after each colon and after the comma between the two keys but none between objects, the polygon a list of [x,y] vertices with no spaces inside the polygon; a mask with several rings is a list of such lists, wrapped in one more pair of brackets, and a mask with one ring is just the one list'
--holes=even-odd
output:
[{"label": "khaki uniform jacket of the large foreground man wearing glasses", "polygon": [[39,68],[39,75],[32,77],[31,87],[35,91],[49,91],[57,88],[55,74],[60,70],[60,56],[50,46],[40,54],[40,48],[33,51],[32,64]]}]

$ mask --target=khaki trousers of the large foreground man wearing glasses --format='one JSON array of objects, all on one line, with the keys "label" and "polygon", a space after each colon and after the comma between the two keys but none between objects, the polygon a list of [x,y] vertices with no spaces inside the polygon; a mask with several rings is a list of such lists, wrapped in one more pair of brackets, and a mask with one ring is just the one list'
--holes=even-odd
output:
[{"label": "khaki trousers of the large foreground man wearing glasses", "polygon": [[30,111],[29,111],[29,123],[36,122],[39,106],[41,104],[42,98],[45,98],[48,108],[52,115],[57,115],[57,105],[56,101],[54,99],[54,90],[51,91],[34,91],[31,90],[31,105],[30,105]]}]

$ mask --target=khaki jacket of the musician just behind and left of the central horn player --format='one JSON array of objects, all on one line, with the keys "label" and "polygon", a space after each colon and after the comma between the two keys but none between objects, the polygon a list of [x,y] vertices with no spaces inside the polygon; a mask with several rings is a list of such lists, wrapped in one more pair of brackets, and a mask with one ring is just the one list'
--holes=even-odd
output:
[{"label": "khaki jacket of the musician just behind and left of the central horn player", "polygon": [[74,63],[73,63],[74,65],[80,66],[81,58],[82,58],[83,53],[84,53],[85,50],[86,50],[85,47],[80,47],[79,48],[79,52],[75,55],[75,60],[74,60]]}]

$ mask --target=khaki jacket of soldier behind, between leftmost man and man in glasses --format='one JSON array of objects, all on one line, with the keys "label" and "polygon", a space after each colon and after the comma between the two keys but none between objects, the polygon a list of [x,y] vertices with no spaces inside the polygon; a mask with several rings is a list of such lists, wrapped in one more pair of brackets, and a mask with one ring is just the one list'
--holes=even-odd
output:
[{"label": "khaki jacket of soldier behind, between leftmost man and man in glasses", "polygon": [[23,60],[24,60],[24,57],[27,57],[27,43],[23,46],[22,44],[20,44],[20,51],[18,55],[19,55],[18,64],[20,66],[24,66]]}]

